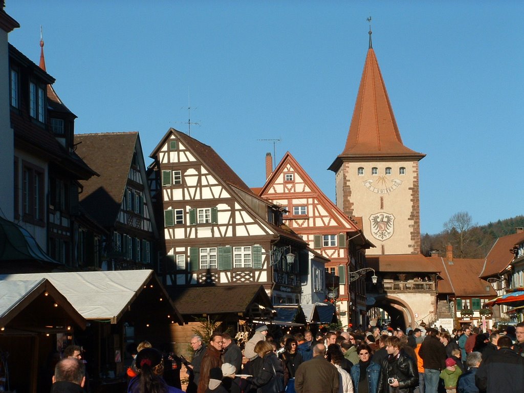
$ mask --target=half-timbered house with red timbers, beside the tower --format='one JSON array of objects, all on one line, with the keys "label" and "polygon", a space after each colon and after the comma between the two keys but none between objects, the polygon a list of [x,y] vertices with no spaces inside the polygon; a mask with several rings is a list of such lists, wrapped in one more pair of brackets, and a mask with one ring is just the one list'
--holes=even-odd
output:
[{"label": "half-timbered house with red timbers, beside the tower", "polygon": [[347,271],[365,267],[365,250],[373,245],[357,222],[325,196],[289,151],[267,177],[259,195],[282,206],[285,223],[329,259],[325,270],[329,273],[326,281],[331,282],[325,283],[325,297],[336,301],[342,324],[364,324],[364,279],[350,284]]}]

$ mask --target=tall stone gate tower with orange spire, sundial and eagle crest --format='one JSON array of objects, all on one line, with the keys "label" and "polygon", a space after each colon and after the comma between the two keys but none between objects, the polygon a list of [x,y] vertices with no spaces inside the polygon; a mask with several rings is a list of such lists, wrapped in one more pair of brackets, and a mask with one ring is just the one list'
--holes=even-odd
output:
[{"label": "tall stone gate tower with orange spire, sundial and eagle crest", "polygon": [[371,255],[420,253],[419,161],[425,155],[402,143],[386,85],[369,49],[336,173],[336,204],[362,216]]}]

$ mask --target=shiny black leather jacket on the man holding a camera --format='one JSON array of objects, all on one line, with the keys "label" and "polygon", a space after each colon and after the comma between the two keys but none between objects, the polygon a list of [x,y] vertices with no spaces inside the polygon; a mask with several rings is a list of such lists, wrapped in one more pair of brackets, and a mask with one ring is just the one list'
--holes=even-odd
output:
[{"label": "shiny black leather jacket on the man holding a camera", "polygon": [[[392,388],[388,378],[397,378],[399,387]],[[419,384],[417,361],[400,350],[397,356],[389,355],[382,362],[380,378],[378,380],[378,393],[412,393]]]}]

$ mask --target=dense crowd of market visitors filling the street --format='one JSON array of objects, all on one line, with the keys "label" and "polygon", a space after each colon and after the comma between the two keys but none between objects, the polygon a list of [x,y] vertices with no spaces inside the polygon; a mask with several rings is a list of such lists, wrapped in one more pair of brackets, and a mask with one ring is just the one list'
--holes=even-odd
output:
[{"label": "dense crowd of market visitors filling the street", "polygon": [[[206,342],[194,335],[191,346],[188,362],[140,343],[127,373],[128,393],[182,392],[182,363],[188,370],[187,393],[524,391],[524,322],[505,331],[370,326],[318,334],[305,330],[278,339],[260,324],[244,351],[230,334],[218,332]],[[69,352],[55,368],[52,393],[83,391],[85,367],[78,348]]]}]

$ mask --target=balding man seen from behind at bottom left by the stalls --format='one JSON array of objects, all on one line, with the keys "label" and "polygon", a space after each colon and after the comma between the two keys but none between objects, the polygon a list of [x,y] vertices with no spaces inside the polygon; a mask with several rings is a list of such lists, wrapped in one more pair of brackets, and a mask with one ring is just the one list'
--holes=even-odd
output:
[{"label": "balding man seen from behind at bottom left by the stalls", "polygon": [[80,393],[85,384],[85,366],[75,357],[66,357],[54,367],[51,393]]}]

